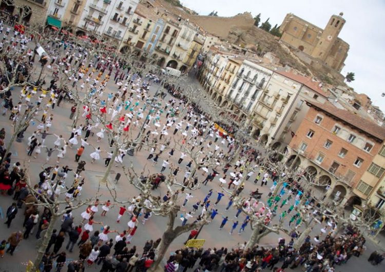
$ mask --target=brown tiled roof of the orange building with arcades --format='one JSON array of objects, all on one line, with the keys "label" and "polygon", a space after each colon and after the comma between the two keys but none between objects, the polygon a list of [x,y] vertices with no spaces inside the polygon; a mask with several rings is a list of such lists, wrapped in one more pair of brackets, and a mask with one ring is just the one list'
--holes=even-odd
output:
[{"label": "brown tiled roof of the orange building with arcades", "polygon": [[385,140],[385,128],[378,126],[376,123],[371,122],[368,119],[362,118],[361,116],[350,111],[336,108],[329,103],[319,104],[311,101],[306,101],[306,103],[317,110],[328,113],[334,118],[355,127],[362,133],[372,135],[372,137],[379,139],[381,142]]}]

